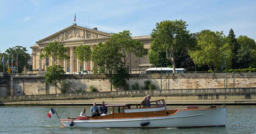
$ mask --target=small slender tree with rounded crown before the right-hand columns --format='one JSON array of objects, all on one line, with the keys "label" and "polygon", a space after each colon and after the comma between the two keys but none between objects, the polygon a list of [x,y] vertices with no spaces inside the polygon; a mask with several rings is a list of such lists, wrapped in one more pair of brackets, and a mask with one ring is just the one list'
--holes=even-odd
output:
[{"label": "small slender tree with rounded crown before the right-hand columns", "polygon": [[[74,54],[79,59],[80,64],[83,65],[83,63],[89,61],[91,59],[91,48],[87,45],[80,45],[76,47]],[[84,70],[84,66],[83,66]]]}]

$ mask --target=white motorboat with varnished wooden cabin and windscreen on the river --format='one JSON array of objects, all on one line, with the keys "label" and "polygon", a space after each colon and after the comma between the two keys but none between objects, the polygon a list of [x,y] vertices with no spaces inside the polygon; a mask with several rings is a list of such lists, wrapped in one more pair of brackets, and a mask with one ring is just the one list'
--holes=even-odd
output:
[{"label": "white motorboat with varnished wooden cabin and windscreen on the river", "polygon": [[103,128],[158,128],[158,127],[209,127],[226,125],[226,108],[195,105],[183,109],[166,109],[164,99],[140,105],[106,104],[111,114],[95,117],[59,119],[63,127]]}]

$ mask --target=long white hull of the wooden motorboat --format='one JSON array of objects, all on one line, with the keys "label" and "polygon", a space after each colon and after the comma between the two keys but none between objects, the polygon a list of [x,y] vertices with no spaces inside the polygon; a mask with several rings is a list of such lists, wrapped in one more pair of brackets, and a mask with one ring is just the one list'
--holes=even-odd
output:
[{"label": "long white hull of the wooden motorboat", "polygon": [[[128,118],[128,119],[91,119],[73,120],[74,125],[70,126],[71,120],[60,120],[64,127],[142,127],[141,122],[148,122],[147,127],[205,127],[225,126],[226,108],[178,110],[176,114],[162,117]],[[142,127],[143,128],[143,127]]]}]

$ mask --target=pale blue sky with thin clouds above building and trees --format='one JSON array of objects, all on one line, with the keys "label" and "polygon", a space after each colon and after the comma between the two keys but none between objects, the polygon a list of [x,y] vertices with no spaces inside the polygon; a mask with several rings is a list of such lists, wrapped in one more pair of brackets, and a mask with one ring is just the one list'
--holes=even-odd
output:
[{"label": "pale blue sky with thin clouds above building and trees", "polygon": [[145,36],[157,22],[182,19],[191,33],[232,28],[256,40],[256,0],[0,0],[1,53],[19,45],[31,54],[36,41],[72,25],[75,13],[76,24],[109,33]]}]

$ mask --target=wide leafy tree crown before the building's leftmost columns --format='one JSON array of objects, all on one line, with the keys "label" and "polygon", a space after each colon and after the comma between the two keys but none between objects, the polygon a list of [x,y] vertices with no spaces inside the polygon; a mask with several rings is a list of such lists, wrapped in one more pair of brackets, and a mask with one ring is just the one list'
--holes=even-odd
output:
[{"label": "wide leafy tree crown before the building's leftmost columns", "polygon": [[40,54],[40,58],[49,58],[49,61],[53,64],[61,62],[61,60],[69,59],[70,57],[66,55],[67,48],[63,44],[59,44],[57,41],[49,43],[43,48],[44,53]]}]

